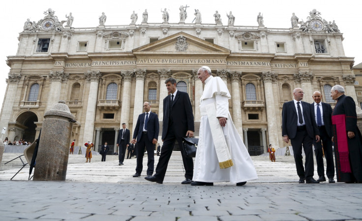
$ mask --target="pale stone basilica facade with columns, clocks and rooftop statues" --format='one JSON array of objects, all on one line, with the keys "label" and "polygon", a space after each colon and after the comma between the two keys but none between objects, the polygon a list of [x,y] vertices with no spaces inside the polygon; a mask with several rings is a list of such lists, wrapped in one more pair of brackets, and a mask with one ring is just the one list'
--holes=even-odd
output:
[{"label": "pale stone basilica facade with columns, clocks and rooftop statues", "polygon": [[44,113],[59,100],[77,121],[71,133],[76,145],[114,145],[122,123],[132,136],[145,101],[158,114],[161,134],[169,77],[190,97],[197,136],[203,92],[197,69],[203,65],[226,83],[230,113],[250,155],[266,153],[268,144],[287,145],[281,110],[294,88],[302,88],[310,103],[320,91],[333,107],[330,91],[339,84],[357,102],[354,59],[344,54],[335,22],[315,9],[306,12],[306,22],[293,14],[285,28],[265,27],[260,13],[256,26],[234,26],[230,12],[225,25],[215,15],[215,24],[203,24],[201,17],[192,24],[182,18],[168,23],[167,13],[162,23],[143,17],[141,24],[132,14],[131,24],[120,26],[105,25],[103,13],[99,26],[80,29],[71,26],[71,15],[59,21],[52,9],[44,13],[38,22],[25,23],[17,54],[6,61],[10,72],[0,127],[11,141],[33,141]]}]

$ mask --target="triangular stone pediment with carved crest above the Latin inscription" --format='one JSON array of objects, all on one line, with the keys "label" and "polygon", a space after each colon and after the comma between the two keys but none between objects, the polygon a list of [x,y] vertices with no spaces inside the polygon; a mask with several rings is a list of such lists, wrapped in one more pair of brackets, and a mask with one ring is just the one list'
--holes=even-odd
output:
[{"label": "triangular stone pediment with carved crest above the Latin inscription", "polygon": [[210,43],[185,32],[179,32],[158,41],[146,44],[132,50],[133,54],[213,54],[229,55],[230,50],[216,44]]}]

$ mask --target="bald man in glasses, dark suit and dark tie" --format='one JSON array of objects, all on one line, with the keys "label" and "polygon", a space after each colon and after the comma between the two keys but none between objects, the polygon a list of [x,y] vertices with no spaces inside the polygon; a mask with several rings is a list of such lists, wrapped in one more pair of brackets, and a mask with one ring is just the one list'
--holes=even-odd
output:
[{"label": "bald man in glasses, dark suit and dark tie", "polygon": [[[319,184],[313,179],[313,139],[319,142],[319,130],[314,120],[314,112],[310,104],[303,102],[303,90],[293,91],[294,100],[285,102],[282,110],[282,135],[285,143],[292,143],[299,183]],[[305,172],[302,160],[302,146],[305,153]]]}]

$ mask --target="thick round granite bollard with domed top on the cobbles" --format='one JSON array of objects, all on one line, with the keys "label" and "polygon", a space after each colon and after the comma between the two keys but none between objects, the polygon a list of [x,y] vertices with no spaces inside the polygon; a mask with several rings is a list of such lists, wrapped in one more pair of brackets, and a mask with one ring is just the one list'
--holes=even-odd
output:
[{"label": "thick round granite bollard with domed top on the cobbles", "polygon": [[73,119],[64,100],[45,112],[33,180],[65,181]]}]

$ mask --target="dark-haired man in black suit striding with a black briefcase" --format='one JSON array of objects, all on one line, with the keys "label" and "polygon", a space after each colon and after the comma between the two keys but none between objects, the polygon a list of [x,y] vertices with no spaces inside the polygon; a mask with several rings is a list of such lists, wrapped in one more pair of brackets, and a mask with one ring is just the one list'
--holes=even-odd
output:
[{"label": "dark-haired man in black suit striding with a black briefcase", "polygon": [[194,115],[190,97],[187,93],[178,91],[176,80],[168,78],[165,81],[167,91],[170,95],[163,99],[163,128],[161,156],[158,159],[156,173],[151,178],[145,177],[151,182],[163,183],[168,161],[171,158],[176,141],[182,155],[182,162],[185,168],[185,180],[181,184],[191,184],[194,164],[192,158],[186,157],[182,148],[182,137],[194,135]]}]

